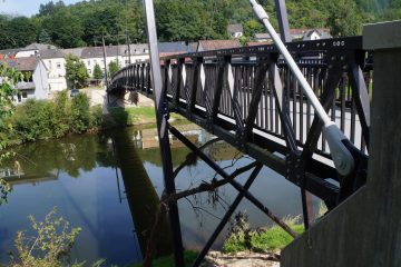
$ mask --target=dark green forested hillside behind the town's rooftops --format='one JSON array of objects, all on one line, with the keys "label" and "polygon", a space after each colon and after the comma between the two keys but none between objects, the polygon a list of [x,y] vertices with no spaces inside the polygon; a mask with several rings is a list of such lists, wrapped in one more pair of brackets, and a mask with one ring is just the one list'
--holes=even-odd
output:
[{"label": "dark green forested hillside behind the town's rooftops", "polygon": [[[260,1],[276,27],[274,1]],[[401,19],[401,0],[287,0],[291,28],[331,29],[333,36],[359,34],[366,22]],[[155,0],[162,41],[195,41],[227,38],[228,23],[243,23],[245,36],[263,31],[247,0]],[[0,49],[31,42],[61,48],[125,42],[145,42],[141,0],[89,0],[71,6],[62,1],[41,4],[31,17],[0,14]]]}]

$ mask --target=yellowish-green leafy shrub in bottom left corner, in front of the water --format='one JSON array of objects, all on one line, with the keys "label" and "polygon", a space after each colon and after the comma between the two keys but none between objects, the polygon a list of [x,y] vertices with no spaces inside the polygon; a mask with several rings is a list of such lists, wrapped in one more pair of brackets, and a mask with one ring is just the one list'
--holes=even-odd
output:
[{"label": "yellowish-green leafy shrub in bottom left corner, in front of the water", "polygon": [[[56,217],[56,208],[46,215],[43,221],[29,216],[33,236],[27,237],[26,231],[18,231],[14,239],[17,255],[11,258],[10,267],[81,267],[85,263],[70,264],[69,254],[80,233],[79,227],[72,228],[62,217]],[[104,260],[92,265],[101,266]]]}]

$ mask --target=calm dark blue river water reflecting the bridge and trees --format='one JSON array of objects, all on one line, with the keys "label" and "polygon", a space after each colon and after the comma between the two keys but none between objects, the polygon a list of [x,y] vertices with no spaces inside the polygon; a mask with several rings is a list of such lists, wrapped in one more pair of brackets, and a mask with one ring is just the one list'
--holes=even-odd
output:
[{"label": "calm dark blue river water reflecting the bridge and trees", "polygon": [[[194,125],[177,127],[198,145],[211,138]],[[174,138],[170,142],[176,168],[185,160],[188,149]],[[1,167],[10,169],[4,174],[12,172],[6,179],[13,188],[9,202],[0,207],[1,263],[7,263],[8,254],[16,251],[13,240],[18,230],[27,229],[26,235],[32,235],[28,216],[41,220],[53,207],[58,216],[82,229],[72,248],[72,259],[92,263],[104,258],[107,265],[141,261],[164,185],[155,128],[127,128],[38,141],[19,146],[13,152],[14,158]],[[215,144],[206,152],[227,171],[252,161],[224,142]],[[233,158],[237,159],[234,165]],[[244,184],[247,175],[250,172],[239,176],[238,181]],[[176,187],[188,189],[213,177],[214,171],[197,160],[178,174]],[[265,167],[251,192],[280,217],[302,212],[300,189]],[[202,248],[235,196],[235,189],[225,186],[217,195],[200,194],[179,201],[185,248]],[[218,201],[213,201],[216,198]],[[317,206],[317,199],[311,201]],[[237,211],[248,216],[251,227],[272,224],[247,200],[242,201]],[[215,249],[221,248],[226,235],[227,227],[216,240]],[[164,220],[158,255],[170,253],[169,240]]]}]

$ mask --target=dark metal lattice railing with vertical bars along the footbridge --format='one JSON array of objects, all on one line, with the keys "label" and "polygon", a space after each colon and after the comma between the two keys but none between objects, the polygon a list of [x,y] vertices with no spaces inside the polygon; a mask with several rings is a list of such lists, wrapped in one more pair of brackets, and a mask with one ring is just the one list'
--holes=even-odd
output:
[{"label": "dark metal lattice railing with vertical bars along the footbridge", "polygon": [[[372,53],[362,49],[362,38],[286,46],[332,120],[368,154]],[[313,107],[274,46],[176,55],[162,58],[160,65],[172,111],[203,118],[211,129],[226,123],[238,142],[268,136],[278,152],[285,155],[293,142],[330,160],[324,136],[313,126]],[[118,89],[150,96],[149,62],[118,71],[109,90]]]}]

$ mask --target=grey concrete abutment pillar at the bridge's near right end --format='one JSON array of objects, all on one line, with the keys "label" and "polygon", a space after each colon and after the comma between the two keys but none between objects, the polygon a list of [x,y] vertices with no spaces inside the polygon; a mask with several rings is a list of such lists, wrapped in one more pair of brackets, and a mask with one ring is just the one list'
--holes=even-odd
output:
[{"label": "grey concrete abutment pillar at the bridge's near right end", "polygon": [[401,266],[401,21],[368,24],[374,50],[368,182],[282,251],[282,266]]}]

